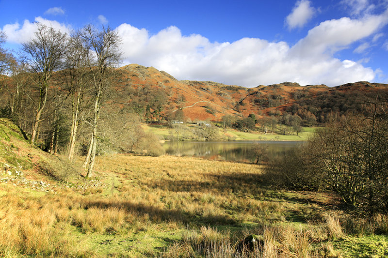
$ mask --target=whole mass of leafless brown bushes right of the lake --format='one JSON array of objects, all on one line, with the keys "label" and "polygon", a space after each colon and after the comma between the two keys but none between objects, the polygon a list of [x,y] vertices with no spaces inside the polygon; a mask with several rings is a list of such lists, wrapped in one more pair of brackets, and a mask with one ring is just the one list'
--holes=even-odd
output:
[{"label": "whole mass of leafless brown bushes right of the lake", "polygon": [[269,173],[291,188],[327,185],[356,212],[387,213],[388,117],[376,103],[366,109],[367,116],[335,118],[306,145],[273,161]]}]

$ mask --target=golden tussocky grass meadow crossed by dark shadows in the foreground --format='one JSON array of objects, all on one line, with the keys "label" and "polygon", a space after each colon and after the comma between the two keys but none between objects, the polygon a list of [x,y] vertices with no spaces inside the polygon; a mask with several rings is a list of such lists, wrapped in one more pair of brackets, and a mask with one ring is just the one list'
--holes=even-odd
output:
[{"label": "golden tussocky grass meadow crossed by dark shadows in the foreground", "polygon": [[314,250],[326,257],[388,255],[387,235],[342,233],[324,212],[333,208],[330,195],[274,191],[260,166],[114,155],[97,158],[97,180],[69,175],[57,181],[37,166],[56,158],[7,130],[8,138],[0,138],[5,154],[21,159],[30,153],[24,177],[46,186],[32,189],[0,173],[0,257],[157,257],[163,251],[188,257],[200,253],[193,239],[234,244],[262,232],[266,252],[274,243],[283,257]]}]

